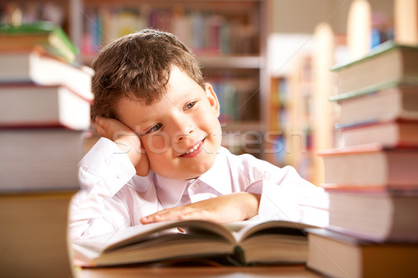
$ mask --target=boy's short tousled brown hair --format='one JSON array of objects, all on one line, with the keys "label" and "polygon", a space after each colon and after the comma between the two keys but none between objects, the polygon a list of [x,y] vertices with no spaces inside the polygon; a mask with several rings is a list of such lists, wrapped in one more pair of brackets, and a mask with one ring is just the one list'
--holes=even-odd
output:
[{"label": "boy's short tousled brown hair", "polygon": [[144,29],[104,47],[93,61],[95,96],[91,120],[117,118],[119,99],[127,97],[150,105],[167,92],[171,67],[177,66],[204,88],[199,63],[185,44],[171,33]]}]

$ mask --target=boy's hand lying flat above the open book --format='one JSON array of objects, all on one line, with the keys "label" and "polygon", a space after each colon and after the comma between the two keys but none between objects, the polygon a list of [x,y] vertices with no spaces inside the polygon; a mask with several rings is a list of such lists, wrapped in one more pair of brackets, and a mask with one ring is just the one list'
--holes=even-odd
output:
[{"label": "boy's hand lying flat above the open book", "polygon": [[219,223],[247,220],[258,213],[261,195],[233,193],[200,202],[167,208],[141,218],[142,224],[169,220],[211,220]]}]

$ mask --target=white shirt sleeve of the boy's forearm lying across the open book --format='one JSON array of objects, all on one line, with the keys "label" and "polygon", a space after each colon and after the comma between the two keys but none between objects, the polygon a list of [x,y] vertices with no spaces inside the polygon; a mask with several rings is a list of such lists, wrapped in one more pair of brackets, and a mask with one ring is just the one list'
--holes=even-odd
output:
[{"label": "white shirt sleeve of the boy's forearm lying across the open book", "polygon": [[265,161],[251,167],[252,183],[246,192],[261,194],[258,218],[304,222],[319,227],[328,224],[328,196],[323,188],[300,177],[295,168]]}]

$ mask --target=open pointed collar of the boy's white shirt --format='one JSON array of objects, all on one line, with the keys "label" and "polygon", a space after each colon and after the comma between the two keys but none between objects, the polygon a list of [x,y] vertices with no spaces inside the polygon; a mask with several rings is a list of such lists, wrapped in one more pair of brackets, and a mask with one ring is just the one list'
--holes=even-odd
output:
[{"label": "open pointed collar of the boy's white shirt", "polygon": [[[208,186],[217,190],[222,195],[232,193],[231,188],[231,171],[227,154],[229,151],[221,147],[219,154],[215,158],[215,163],[205,173],[201,174],[196,180],[208,184]],[[169,179],[155,174],[154,184],[157,197],[163,208],[171,208],[180,202],[181,197],[188,183],[192,183],[195,179]]]}]

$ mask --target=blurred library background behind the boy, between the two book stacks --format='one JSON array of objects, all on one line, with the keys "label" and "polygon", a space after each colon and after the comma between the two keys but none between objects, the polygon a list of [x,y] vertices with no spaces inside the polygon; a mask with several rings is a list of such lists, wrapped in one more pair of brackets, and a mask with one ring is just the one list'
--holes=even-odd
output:
[{"label": "blurred library background behind the boy, between the two book stacks", "polygon": [[338,83],[330,67],[350,59],[350,26],[367,49],[394,37],[393,0],[0,1],[0,12],[1,22],[62,26],[80,50],[79,65],[127,33],[174,33],[215,87],[222,145],[293,165],[317,185],[323,166],[316,152],[339,146],[338,107],[328,101]]}]

